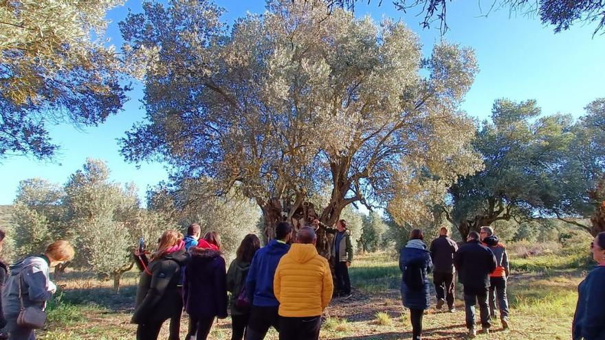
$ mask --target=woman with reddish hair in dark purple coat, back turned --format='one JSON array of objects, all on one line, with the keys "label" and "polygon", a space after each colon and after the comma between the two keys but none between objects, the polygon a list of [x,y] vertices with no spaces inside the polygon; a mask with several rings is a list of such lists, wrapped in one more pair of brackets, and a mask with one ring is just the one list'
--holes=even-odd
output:
[{"label": "woman with reddish hair in dark purple coat, back turned", "polygon": [[185,270],[184,301],[189,314],[186,340],[208,339],[214,318],[227,317],[227,270],[221,256],[221,236],[208,231],[189,248],[190,262]]}]

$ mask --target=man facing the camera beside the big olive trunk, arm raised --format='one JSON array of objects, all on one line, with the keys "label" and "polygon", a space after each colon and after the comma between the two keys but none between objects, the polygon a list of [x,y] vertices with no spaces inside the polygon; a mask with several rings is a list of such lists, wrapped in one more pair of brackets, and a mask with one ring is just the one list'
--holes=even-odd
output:
[{"label": "man facing the camera beside the big olive trunk, arm raised", "polygon": [[336,290],[339,297],[351,297],[351,279],[349,279],[349,266],[353,261],[353,245],[351,233],[347,229],[346,220],[336,222],[336,236],[332,247],[334,275],[336,276]]}]

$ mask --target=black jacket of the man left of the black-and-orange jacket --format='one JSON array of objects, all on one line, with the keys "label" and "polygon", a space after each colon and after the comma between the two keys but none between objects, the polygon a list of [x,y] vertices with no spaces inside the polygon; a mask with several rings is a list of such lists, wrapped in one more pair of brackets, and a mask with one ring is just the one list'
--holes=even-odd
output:
[{"label": "black jacket of the man left of the black-and-orange jacket", "polygon": [[496,269],[496,258],[481,242],[472,240],[456,252],[454,266],[464,285],[464,293],[478,294],[489,288],[489,274]]}]

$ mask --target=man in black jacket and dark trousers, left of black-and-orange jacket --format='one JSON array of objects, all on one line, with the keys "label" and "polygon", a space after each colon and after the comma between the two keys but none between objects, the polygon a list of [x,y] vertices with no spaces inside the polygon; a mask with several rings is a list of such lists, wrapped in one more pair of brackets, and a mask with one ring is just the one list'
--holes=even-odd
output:
[{"label": "man in black jacket and dark trousers, left of black-and-orange jacket", "polygon": [[464,305],[466,312],[466,328],[468,336],[476,337],[475,304],[481,308],[481,326],[483,333],[489,333],[489,274],[496,269],[494,253],[479,242],[479,233],[471,231],[466,243],[454,255],[454,266],[458,269],[458,277],[464,286]]}]

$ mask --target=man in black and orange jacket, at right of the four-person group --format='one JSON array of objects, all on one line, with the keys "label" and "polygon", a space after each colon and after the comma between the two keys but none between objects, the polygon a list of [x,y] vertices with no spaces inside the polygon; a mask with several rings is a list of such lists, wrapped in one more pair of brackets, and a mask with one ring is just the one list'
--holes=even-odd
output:
[{"label": "man in black and orange jacket, at right of the four-person group", "polygon": [[500,321],[502,328],[509,328],[508,299],[506,296],[506,282],[510,272],[506,247],[498,241],[492,227],[481,227],[481,242],[486,245],[496,257],[496,270],[489,275],[489,310],[490,315],[496,317],[496,294],[500,306]]}]

